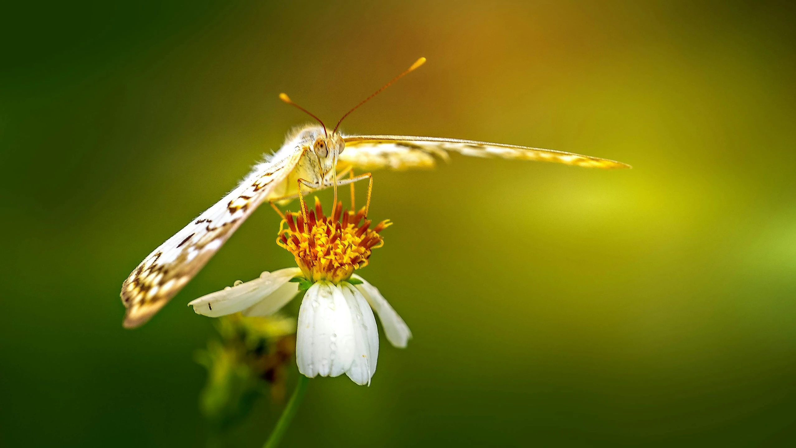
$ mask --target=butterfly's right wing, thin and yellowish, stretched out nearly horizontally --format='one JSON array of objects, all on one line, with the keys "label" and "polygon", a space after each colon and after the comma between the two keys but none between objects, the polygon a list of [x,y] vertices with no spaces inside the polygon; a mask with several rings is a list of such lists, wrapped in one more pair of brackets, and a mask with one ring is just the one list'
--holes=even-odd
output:
[{"label": "butterfly's right wing, thin and yellowish, stretched out nearly horizontally", "polygon": [[629,164],[600,157],[458,138],[352,135],[343,137],[343,140],[345,140],[345,150],[340,155],[340,161],[365,170],[434,168],[435,156],[447,161],[448,153],[451,151],[465,156],[543,160],[586,168],[630,168]]}]

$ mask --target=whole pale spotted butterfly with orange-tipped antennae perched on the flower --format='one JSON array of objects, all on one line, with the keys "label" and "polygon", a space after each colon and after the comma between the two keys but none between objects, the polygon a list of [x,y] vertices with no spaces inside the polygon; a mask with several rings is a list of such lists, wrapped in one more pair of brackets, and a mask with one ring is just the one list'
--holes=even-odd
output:
[{"label": "whole pale spotted butterfly with orange-tipped antennae perched on the flower", "polygon": [[[378,91],[354,106],[329,132],[323,122],[285,94],[284,102],[306,112],[320,123],[294,129],[282,147],[263,162],[223,199],[154,249],[122,285],[122,303],[127,308],[123,326],[141,326],[176,295],[210,260],[235,230],[264,202],[285,202],[295,198],[300,185],[318,190],[365,179],[353,176],[355,168],[433,168],[436,159],[448,160],[449,153],[465,156],[500,157],[513,160],[544,160],[587,168],[630,168],[615,160],[552,149],[504,145],[486,141],[404,135],[344,135],[340,123],[353,110],[383,91],[397,79],[425,62],[420,58]],[[338,179],[350,172],[349,179]]]}]

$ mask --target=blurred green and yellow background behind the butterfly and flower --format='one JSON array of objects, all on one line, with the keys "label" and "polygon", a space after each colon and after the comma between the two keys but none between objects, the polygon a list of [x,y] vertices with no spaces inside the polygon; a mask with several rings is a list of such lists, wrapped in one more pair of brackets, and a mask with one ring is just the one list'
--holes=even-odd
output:
[{"label": "blurred green and yellow background behind the butterfly and flower", "polygon": [[[377,172],[362,275],[415,334],[285,446],[796,442],[796,28],[775,2],[17,2],[0,17],[0,445],[203,446],[212,320],[292,265],[259,210],[172,303],[119,289],[291,126],[604,156]],[[328,195],[322,198],[329,199]],[[294,206],[295,209],[295,206]],[[291,381],[295,381],[295,367]],[[259,446],[261,400],[229,446]]]}]

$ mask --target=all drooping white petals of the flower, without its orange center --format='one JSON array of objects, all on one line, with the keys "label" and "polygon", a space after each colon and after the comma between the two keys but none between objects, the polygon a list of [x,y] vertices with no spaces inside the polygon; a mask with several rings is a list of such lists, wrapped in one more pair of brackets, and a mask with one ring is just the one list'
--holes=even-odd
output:
[{"label": "all drooping white petals of the flower, without its orange center", "polygon": [[[210,317],[238,311],[245,316],[271,315],[298,292],[291,278],[301,269],[263,272],[259,278],[193,300],[198,314]],[[357,384],[369,384],[379,356],[379,333],[373,308],[393,346],[405,348],[412,331],[372,284],[320,280],[304,294],[298,311],[296,362],[307,377],[338,377],[345,373]],[[354,282],[356,283],[356,280]]]}]

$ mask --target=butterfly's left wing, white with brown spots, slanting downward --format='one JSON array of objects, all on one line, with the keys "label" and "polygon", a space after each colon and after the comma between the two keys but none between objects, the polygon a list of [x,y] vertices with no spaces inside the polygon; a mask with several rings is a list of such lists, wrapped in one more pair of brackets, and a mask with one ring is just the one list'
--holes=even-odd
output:
[{"label": "butterfly's left wing, white with brown spots, slanting downward", "polygon": [[300,152],[257,164],[224,199],[205,210],[131,272],[122,285],[124,326],[148,321],[210,260],[269,193],[290,174]]}]

